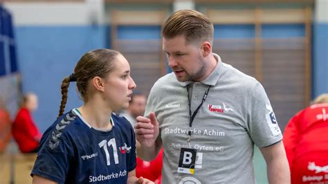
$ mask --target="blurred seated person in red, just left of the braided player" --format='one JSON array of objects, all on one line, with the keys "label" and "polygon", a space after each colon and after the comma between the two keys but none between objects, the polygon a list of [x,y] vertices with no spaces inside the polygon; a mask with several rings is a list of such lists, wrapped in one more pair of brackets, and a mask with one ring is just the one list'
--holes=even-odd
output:
[{"label": "blurred seated person in red, just left of the braided player", "polygon": [[33,122],[31,113],[35,109],[37,109],[37,95],[33,93],[24,95],[21,109],[12,123],[12,136],[22,153],[36,153],[42,137]]}]

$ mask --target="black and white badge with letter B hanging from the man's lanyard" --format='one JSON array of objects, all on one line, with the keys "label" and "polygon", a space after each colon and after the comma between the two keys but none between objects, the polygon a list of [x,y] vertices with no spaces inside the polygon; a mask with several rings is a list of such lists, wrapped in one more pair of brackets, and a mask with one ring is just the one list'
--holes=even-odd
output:
[{"label": "black and white badge with letter B hanging from the man's lanyard", "polygon": [[194,163],[196,162],[197,149],[181,148],[178,172],[194,174]]}]

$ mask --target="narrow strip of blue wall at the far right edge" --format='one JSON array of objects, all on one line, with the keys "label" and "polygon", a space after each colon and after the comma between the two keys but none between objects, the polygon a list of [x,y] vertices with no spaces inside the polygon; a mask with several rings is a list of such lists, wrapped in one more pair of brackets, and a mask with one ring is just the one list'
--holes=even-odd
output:
[{"label": "narrow strip of blue wall at the far right edge", "polygon": [[313,93],[328,93],[328,23],[316,23],[313,29]]}]

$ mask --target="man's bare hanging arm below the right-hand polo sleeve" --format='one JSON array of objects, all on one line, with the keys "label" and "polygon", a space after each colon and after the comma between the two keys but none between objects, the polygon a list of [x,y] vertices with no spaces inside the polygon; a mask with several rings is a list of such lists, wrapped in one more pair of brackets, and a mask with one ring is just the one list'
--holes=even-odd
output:
[{"label": "man's bare hanging arm below the right-hand polo sleeve", "polygon": [[259,150],[266,161],[268,183],[291,183],[289,164],[282,141],[268,147],[261,147]]}]

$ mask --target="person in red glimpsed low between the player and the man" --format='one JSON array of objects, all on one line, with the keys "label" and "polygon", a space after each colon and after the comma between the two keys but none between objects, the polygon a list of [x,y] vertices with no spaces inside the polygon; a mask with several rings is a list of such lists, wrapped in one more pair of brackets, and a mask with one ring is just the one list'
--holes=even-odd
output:
[{"label": "person in red glimpsed low between the player and the man", "polygon": [[162,166],[163,166],[162,156],[163,156],[163,148],[159,152],[158,156],[150,162],[147,162],[137,157],[136,176],[137,177],[143,176],[144,178],[148,178],[149,180],[154,181],[154,183],[156,184],[160,184],[162,178]]}]

